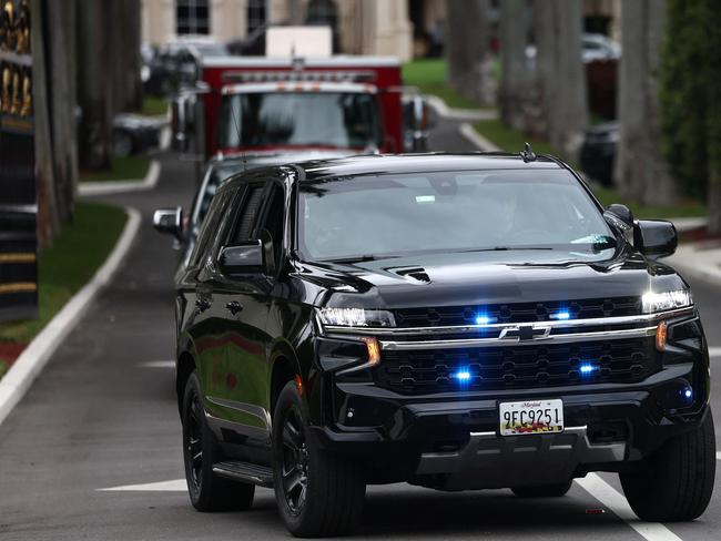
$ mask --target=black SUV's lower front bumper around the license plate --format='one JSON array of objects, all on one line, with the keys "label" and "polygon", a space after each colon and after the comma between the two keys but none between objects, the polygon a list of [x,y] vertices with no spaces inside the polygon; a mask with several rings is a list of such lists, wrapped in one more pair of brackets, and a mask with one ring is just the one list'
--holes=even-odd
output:
[{"label": "black SUV's lower front bumper around the license plate", "polygon": [[[694,398],[682,404],[679,389]],[[373,384],[335,384],[336,419],[317,442],[366,463],[370,482],[409,481],[444,490],[562,482],[621,471],[708,411],[708,365],[663,368],[641,384],[518,389],[476,396],[408,397]],[[499,436],[498,404],[563,400],[562,433]],[[374,425],[373,420],[384,419]]]}]

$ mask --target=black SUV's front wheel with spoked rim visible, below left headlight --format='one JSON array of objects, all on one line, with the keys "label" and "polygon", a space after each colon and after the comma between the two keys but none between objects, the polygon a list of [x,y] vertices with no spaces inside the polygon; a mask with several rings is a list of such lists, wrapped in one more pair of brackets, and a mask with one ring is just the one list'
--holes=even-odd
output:
[{"label": "black SUV's front wheel with spoked rim visible, below left headlight", "polygon": [[281,391],[273,415],[273,480],[278,511],[301,538],[351,533],[363,516],[365,480],[352,461],[317,448],[295,381]]}]

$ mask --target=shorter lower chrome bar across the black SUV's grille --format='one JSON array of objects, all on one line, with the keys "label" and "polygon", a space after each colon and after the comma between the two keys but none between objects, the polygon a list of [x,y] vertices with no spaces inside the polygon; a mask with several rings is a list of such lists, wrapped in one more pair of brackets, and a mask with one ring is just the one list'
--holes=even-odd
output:
[{"label": "shorter lower chrome bar across the black SUV's grille", "polygon": [[512,338],[461,338],[454,340],[380,340],[383,350],[418,350],[418,349],[456,349],[468,347],[512,347],[531,346],[536,344],[572,344],[587,340],[617,340],[623,338],[647,338],[656,336],[657,327],[642,327],[634,329],[602,330],[597,333],[573,333],[569,335],[548,335],[540,338],[521,340]]}]

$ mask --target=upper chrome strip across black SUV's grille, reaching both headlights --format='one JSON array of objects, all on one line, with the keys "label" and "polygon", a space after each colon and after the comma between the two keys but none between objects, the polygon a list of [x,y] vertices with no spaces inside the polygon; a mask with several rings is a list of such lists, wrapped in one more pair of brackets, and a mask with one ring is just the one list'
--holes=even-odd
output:
[{"label": "upper chrome strip across black SUV's grille, reaching both headlights", "polygon": [[[669,312],[659,312],[657,314],[642,314],[638,316],[620,316],[620,317],[597,317],[589,319],[567,319],[567,320],[548,320],[548,321],[524,321],[524,323],[496,323],[487,325],[454,325],[446,327],[343,327],[338,325],[323,326],[318,320],[321,329],[326,335],[372,335],[377,337],[394,337],[394,336],[414,336],[414,335],[450,335],[464,333],[477,333],[479,330],[498,330],[501,335],[509,330],[515,330],[519,326],[531,326],[535,328],[550,328],[550,336],[548,338],[560,338],[567,335],[554,335],[552,330],[556,328],[582,328],[595,326],[613,326],[613,325],[638,325],[658,323],[662,319],[672,317],[680,317],[692,315],[694,313],[693,306],[684,308],[677,308]],[[636,330],[636,329],[631,329]],[[618,333],[615,330],[612,333]],[[489,340],[498,341],[498,338],[487,338]],[[538,340],[538,338],[536,339]]]}]

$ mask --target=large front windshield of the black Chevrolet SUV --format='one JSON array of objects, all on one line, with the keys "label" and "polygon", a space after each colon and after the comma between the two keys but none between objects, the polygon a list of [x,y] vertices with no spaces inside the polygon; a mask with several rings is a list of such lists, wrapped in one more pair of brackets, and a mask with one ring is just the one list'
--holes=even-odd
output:
[{"label": "large front windshield of the black Chevrolet SUV", "polygon": [[616,247],[563,170],[323,178],[301,184],[298,205],[298,247],[309,261],[522,249],[600,261]]}]

